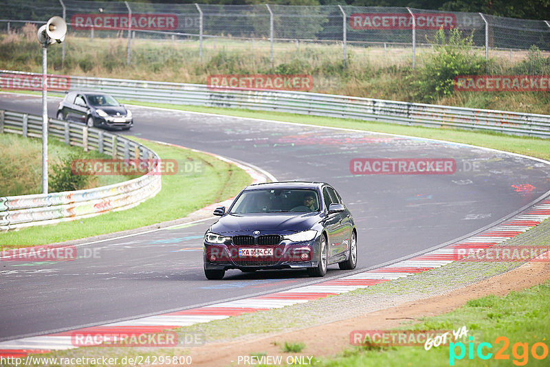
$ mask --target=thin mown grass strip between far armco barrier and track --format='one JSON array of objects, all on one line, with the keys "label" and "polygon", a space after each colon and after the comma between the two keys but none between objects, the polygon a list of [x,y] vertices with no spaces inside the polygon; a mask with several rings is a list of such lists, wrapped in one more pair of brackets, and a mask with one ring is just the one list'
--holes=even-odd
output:
[{"label": "thin mown grass strip between far armco barrier and track", "polygon": [[426,137],[429,139],[446,140],[449,142],[472,144],[486,148],[498,149],[522,155],[529,155],[541,159],[550,160],[550,144],[548,140],[538,137],[520,137],[502,133],[483,131],[465,131],[457,129],[435,129],[423,126],[406,126],[389,124],[386,122],[361,121],[344,118],[323,118],[318,116],[298,115],[285,112],[263,112],[247,109],[223,109],[217,107],[184,106],[178,104],[163,104],[126,100],[126,104],[136,104],[148,107],[161,107],[181,111],[193,111],[202,113],[218,113],[243,118],[259,118],[264,120],[295,122],[300,124],[331,126],[345,129],[357,129],[373,131],[377,133],[391,133]]}]

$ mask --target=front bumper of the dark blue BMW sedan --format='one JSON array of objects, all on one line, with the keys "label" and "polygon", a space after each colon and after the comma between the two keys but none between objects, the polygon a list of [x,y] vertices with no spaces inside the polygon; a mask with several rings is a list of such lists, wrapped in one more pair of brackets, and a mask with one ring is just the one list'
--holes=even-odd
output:
[{"label": "front bumper of the dark blue BMW sedan", "polygon": [[[239,247],[273,248],[273,256],[239,257]],[[318,265],[319,238],[293,243],[282,241],[274,246],[241,245],[232,243],[203,243],[204,269],[300,269]],[[302,254],[307,254],[303,258]],[[212,258],[214,256],[214,258]]]}]

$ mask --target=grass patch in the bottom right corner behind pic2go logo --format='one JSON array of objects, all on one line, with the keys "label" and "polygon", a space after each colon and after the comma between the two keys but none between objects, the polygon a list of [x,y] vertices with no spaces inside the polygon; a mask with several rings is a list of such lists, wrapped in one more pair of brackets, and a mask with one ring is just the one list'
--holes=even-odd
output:
[{"label": "grass patch in the bottom right corner behind pic2go logo", "polygon": [[[355,367],[355,366],[548,366],[548,348],[550,340],[550,282],[537,285],[522,291],[512,291],[507,296],[486,296],[470,300],[464,307],[450,313],[425,318],[412,328],[415,330],[456,330],[466,326],[472,335],[472,355],[467,338],[458,340],[463,343],[465,355],[461,355],[460,346],[439,346],[426,351],[423,346],[386,347],[380,349],[355,347],[345,351],[341,357],[325,359],[319,366]],[[482,337],[479,337],[482,335]],[[505,337],[506,340],[497,340]],[[487,359],[478,355],[478,346],[485,344],[481,350],[484,355],[492,354]],[[537,344],[538,343],[538,344]],[[533,356],[533,346],[538,356]],[[496,359],[501,351],[505,359]],[[546,351],[546,353],[544,353]],[[454,357],[456,356],[456,357]],[[471,357],[471,358],[470,358]]]}]

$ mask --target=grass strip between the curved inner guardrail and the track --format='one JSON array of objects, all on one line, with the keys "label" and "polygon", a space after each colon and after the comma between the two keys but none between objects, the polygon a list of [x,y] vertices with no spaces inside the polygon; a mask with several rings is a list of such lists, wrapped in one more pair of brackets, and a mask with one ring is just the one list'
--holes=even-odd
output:
[{"label": "grass strip between the curved inner guardrail and the track", "polygon": [[191,163],[197,169],[192,172],[181,172],[180,169],[177,175],[162,176],[162,190],[129,210],[0,233],[0,248],[56,243],[178,219],[210,203],[234,196],[252,181],[241,168],[211,155],[134,137],[131,139],[153,149],[163,159],[176,159],[180,168],[185,163]]}]

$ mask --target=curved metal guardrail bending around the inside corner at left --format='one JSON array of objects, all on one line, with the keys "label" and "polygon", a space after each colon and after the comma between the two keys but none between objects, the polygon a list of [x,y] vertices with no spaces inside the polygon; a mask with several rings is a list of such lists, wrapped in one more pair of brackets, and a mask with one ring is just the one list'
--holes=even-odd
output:
[{"label": "curved metal guardrail bending around the inside corner at left", "polygon": [[[49,119],[49,134],[85,151],[109,154],[113,159],[156,159],[151,149],[120,135],[79,124]],[[42,137],[42,117],[0,111],[0,133]],[[125,210],[154,197],[161,189],[161,177],[153,164],[148,174],[109,186],[50,194],[0,197],[0,230],[87,218],[113,210]]]}]

